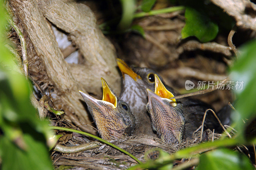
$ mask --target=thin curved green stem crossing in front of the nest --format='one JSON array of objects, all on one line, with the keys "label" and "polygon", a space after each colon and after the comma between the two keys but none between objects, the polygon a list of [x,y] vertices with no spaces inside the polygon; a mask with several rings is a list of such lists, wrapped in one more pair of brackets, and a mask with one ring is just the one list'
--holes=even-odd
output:
[{"label": "thin curved green stem crossing in front of the nest", "polygon": [[69,132],[76,132],[76,133],[79,133],[79,134],[82,134],[82,135],[86,135],[86,136],[89,136],[89,137],[92,137],[94,139],[98,139],[99,141],[103,142],[103,143],[106,143],[108,144],[109,146],[112,146],[113,148],[123,152],[124,154],[130,156],[131,158],[133,158],[134,160],[136,160],[139,164],[141,164],[141,161],[136,158],[135,156],[133,156],[131,153],[123,150],[122,148],[119,148],[118,146],[114,145],[113,143],[110,143],[104,139],[101,139],[100,137],[98,136],[95,136],[95,135],[92,135],[92,134],[89,134],[89,133],[86,133],[86,132],[82,132],[82,131],[79,131],[79,130],[75,130],[75,129],[69,129],[69,128],[62,128],[62,127],[58,127],[58,126],[50,126],[49,128],[51,129],[55,129],[55,130],[65,130],[65,131],[69,131]]}]

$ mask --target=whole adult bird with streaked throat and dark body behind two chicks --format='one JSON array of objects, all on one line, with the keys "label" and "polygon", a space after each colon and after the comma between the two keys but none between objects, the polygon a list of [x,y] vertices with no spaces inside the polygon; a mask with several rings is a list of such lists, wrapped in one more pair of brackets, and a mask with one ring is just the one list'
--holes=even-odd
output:
[{"label": "whole adult bird with streaked throat and dark body behind two chicks", "polygon": [[[146,110],[146,104],[148,103],[146,89],[150,89],[152,91],[155,90],[154,74],[157,73],[149,68],[131,68],[121,59],[116,59],[116,61],[123,74],[123,87],[120,97],[130,105],[136,121],[139,121],[138,124],[140,124],[140,122],[147,122],[144,127],[141,127],[145,134],[152,135],[152,130],[148,128],[150,120],[148,120],[149,115]],[[168,91],[170,91],[174,96],[179,95],[179,93],[173,88],[165,85],[163,79],[158,74],[157,76],[163,82]],[[207,109],[214,110],[211,105],[189,97],[180,99],[180,102],[183,105],[184,112],[189,113],[195,120],[194,124],[196,127],[199,127],[202,124],[204,112]],[[216,118],[210,111],[208,112],[204,123],[205,126],[210,129],[220,129],[220,125]],[[224,115],[218,115],[218,117],[225,119],[225,121],[229,119],[229,117],[227,118]],[[223,119],[220,119],[220,121]]]}]

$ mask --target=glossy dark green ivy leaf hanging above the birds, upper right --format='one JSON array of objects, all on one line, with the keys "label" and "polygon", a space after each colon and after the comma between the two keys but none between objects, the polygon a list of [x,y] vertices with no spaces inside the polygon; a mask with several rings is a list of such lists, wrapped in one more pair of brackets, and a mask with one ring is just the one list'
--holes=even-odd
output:
[{"label": "glossy dark green ivy leaf hanging above the birds, upper right", "polygon": [[213,40],[218,34],[218,25],[203,13],[186,7],[185,17],[186,25],[181,31],[182,38],[196,36],[201,42],[205,43]]}]

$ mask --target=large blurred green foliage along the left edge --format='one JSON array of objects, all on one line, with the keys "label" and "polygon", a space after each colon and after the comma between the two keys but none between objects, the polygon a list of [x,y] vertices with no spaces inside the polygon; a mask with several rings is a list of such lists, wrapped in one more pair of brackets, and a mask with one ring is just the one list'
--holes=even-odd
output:
[{"label": "large blurred green foliage along the left edge", "polygon": [[30,85],[4,47],[7,22],[2,5],[0,0],[0,168],[52,169],[45,140],[51,134],[48,122],[36,117]]}]

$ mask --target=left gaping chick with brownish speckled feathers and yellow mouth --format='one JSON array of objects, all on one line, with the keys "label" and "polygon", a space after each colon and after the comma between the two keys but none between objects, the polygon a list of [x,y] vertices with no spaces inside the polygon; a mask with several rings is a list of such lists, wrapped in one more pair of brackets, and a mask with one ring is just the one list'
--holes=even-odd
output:
[{"label": "left gaping chick with brownish speckled feathers and yellow mouth", "polygon": [[129,105],[115,95],[103,78],[101,82],[102,100],[79,91],[97,125],[100,136],[103,139],[131,136],[135,129],[135,118]]}]

